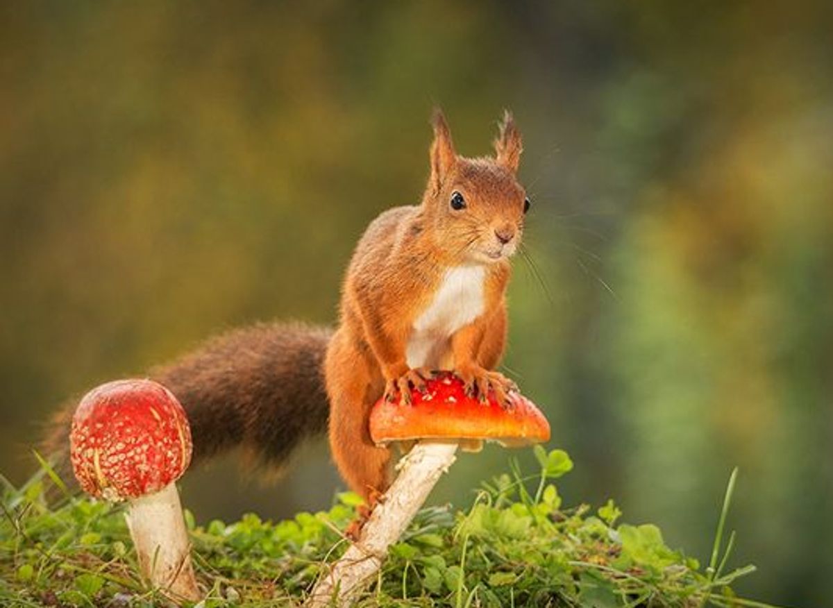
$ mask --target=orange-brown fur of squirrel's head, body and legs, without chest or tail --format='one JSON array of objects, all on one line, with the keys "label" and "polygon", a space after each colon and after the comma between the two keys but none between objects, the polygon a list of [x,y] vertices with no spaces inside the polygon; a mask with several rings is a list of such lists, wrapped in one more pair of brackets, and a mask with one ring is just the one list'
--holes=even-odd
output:
[{"label": "orange-brown fur of squirrel's head, body and legs, without chest or tail", "polygon": [[[485,267],[484,306],[440,344],[436,361],[481,395],[491,388],[502,400],[511,386],[492,371],[506,341],[508,256],[481,259],[494,249],[498,232],[511,234],[511,247],[516,247],[523,228],[525,193],[515,176],[521,138],[508,113],[495,147],[495,158],[457,156],[437,112],[431,174],[421,205],[396,207],[377,217],[347,268],[341,326],[327,350],[325,378],[332,456],[342,477],[362,496],[385,491],[391,481],[391,452],[371,441],[370,409],[382,395],[400,395],[405,401],[408,391],[403,389],[421,385],[426,371],[408,366],[408,339],[448,269],[473,263]],[[453,192],[465,197],[465,213],[449,207]]]}]

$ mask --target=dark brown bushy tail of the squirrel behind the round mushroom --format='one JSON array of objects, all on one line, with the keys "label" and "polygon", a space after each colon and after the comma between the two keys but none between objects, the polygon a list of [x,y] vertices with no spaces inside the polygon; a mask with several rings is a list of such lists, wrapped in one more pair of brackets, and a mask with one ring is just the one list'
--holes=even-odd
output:
[{"label": "dark brown bushy tail of the squirrel behind the round mushroom", "polygon": [[[302,441],[325,434],[330,406],[323,362],[331,335],[329,328],[303,323],[260,323],[152,368],[147,377],[167,386],[185,409],[192,463],[242,447],[257,463],[280,467]],[[67,481],[76,406],[77,400],[67,401],[55,412],[41,444]]]}]

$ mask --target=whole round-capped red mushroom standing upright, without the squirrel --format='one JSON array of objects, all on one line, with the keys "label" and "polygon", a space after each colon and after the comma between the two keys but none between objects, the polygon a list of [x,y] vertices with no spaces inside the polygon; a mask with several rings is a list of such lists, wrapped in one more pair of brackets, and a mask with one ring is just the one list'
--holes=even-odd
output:
[{"label": "whole round-capped red mushroom standing upright, without the squirrel", "polygon": [[192,451],[177,398],[151,380],[98,386],[72,417],[70,446],[84,491],[129,502],[125,518],[142,575],[173,600],[199,600],[175,485]]}]

